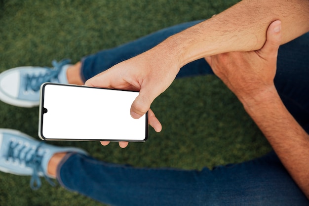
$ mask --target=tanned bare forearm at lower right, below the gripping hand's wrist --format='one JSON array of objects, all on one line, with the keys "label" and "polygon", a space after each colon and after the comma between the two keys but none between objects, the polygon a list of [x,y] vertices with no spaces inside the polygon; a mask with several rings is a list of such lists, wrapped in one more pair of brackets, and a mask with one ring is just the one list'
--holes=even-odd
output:
[{"label": "tanned bare forearm at lower right, below the gripping hand's wrist", "polygon": [[309,135],[287,111],[274,87],[259,96],[240,100],[309,198]]}]

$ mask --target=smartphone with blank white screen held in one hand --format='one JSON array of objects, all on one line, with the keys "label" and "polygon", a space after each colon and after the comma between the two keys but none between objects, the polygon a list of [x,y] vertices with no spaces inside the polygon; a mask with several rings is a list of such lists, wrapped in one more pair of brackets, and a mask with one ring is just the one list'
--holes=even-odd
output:
[{"label": "smartphone with blank white screen held in one hand", "polygon": [[39,137],[43,140],[129,141],[148,138],[148,112],[130,115],[137,91],[44,83],[40,87]]}]

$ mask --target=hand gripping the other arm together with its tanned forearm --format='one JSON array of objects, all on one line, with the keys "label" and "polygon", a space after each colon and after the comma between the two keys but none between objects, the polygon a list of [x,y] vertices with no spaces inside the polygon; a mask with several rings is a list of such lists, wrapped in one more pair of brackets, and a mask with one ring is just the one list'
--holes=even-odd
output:
[{"label": "hand gripping the other arm together with its tanned forearm", "polygon": [[260,50],[224,53],[206,60],[242,102],[309,198],[309,135],[285,108],[273,82],[281,42],[280,26],[280,21],[270,25],[267,41]]}]

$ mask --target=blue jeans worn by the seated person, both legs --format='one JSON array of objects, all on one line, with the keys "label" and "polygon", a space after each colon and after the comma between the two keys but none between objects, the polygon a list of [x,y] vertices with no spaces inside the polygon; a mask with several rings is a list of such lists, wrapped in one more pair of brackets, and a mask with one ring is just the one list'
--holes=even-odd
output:
[{"label": "blue jeans worn by the seated person, both legs", "polygon": [[[82,59],[87,80],[116,63],[146,51],[196,23],[189,22],[103,50]],[[309,34],[279,49],[275,85],[284,104],[309,132]],[[204,59],[185,65],[177,78],[213,74]],[[261,158],[212,170],[136,168],[71,153],[58,166],[65,188],[115,206],[307,206],[274,152]]]}]

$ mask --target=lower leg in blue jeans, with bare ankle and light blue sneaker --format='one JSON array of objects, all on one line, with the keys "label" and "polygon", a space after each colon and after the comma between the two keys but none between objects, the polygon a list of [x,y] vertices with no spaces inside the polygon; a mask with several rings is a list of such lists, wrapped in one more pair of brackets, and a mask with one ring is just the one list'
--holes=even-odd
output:
[{"label": "lower leg in blue jeans, with bare ankle and light blue sneaker", "polygon": [[0,170],[57,178],[61,185],[114,206],[305,206],[300,191],[274,153],[201,171],[136,168],[98,161],[78,149],[56,147],[16,130],[0,129]]}]

